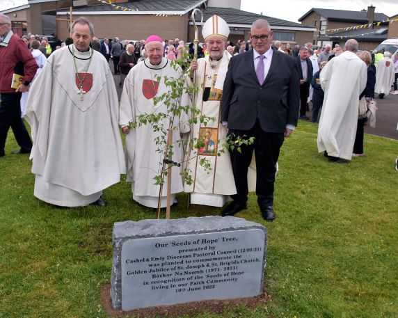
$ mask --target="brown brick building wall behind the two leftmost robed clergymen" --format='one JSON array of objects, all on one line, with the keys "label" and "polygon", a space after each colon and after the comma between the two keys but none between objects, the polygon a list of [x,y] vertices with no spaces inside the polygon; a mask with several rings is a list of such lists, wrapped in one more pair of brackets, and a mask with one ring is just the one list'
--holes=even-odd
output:
[{"label": "brown brick building wall behind the two leftmost robed clergymen", "polygon": [[[93,23],[97,38],[120,40],[141,40],[157,34],[164,40],[179,38],[184,42],[188,37],[188,15],[79,15]],[[58,17],[65,17],[58,16]],[[70,36],[67,22],[58,22],[58,38],[65,40]]]}]

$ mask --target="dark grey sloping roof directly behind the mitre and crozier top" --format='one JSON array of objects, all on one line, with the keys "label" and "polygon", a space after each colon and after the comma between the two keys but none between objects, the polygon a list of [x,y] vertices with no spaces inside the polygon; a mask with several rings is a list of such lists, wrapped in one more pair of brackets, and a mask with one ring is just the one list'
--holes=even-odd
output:
[{"label": "dark grey sloping roof directly behind the mitre and crozier top", "polygon": [[[256,19],[266,19],[271,28],[273,26],[284,26],[284,27],[294,27],[294,28],[309,28],[309,26],[305,26],[303,24],[299,24],[296,22],[290,22],[287,20],[277,19],[276,17],[267,17],[266,15],[258,15],[257,13],[250,13],[247,11],[242,11],[234,8],[216,8],[216,7],[207,7],[205,10],[202,10],[203,13],[203,22],[207,21],[209,17],[212,15],[218,15],[225,19],[225,22],[228,24],[247,24],[251,25],[255,22]],[[200,16],[196,15],[196,22],[200,22]],[[312,27],[310,27],[312,28]]]}]

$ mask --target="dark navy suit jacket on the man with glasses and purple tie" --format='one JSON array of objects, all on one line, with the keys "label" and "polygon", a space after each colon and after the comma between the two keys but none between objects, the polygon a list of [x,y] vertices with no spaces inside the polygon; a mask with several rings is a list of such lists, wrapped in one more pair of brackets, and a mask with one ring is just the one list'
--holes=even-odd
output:
[{"label": "dark navy suit jacket on the man with glasses and purple tie", "polygon": [[285,132],[287,124],[297,124],[299,85],[294,58],[276,49],[262,85],[253,49],[233,56],[224,81],[221,121],[227,121],[230,129],[249,130],[258,118],[264,132]]}]

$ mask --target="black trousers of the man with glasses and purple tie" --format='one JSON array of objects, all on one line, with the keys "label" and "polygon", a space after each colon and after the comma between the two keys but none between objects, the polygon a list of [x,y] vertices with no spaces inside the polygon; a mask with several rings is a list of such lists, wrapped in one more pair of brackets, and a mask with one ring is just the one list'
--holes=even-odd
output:
[{"label": "black trousers of the man with glasses and purple tie", "polygon": [[264,132],[257,120],[252,129],[230,129],[228,136],[232,141],[238,137],[255,138],[253,144],[241,145],[241,152],[237,148],[230,150],[232,170],[237,186],[237,194],[234,194],[231,198],[238,204],[245,203],[248,200],[248,166],[250,166],[254,151],[257,170],[255,190],[257,201],[262,205],[273,205],[276,163],[278,162],[280,147],[282,147],[285,139],[284,134]]}]

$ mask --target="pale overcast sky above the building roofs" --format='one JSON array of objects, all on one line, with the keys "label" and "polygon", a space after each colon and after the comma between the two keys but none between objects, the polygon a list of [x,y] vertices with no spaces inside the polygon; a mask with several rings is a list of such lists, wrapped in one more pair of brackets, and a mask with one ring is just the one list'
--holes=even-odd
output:
[{"label": "pale overcast sky above the building roofs", "polygon": [[[171,0],[175,1],[175,0]],[[0,10],[22,6],[27,0],[0,0]],[[262,13],[268,17],[277,17],[292,22],[298,22],[311,8],[324,8],[360,11],[367,6],[376,7],[376,13],[384,13],[389,17],[398,14],[398,0],[241,0],[241,10],[253,13]],[[289,8],[289,10],[285,10]]]}]

